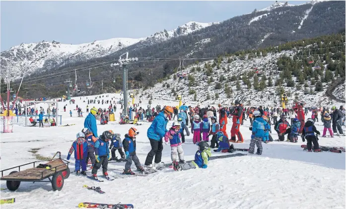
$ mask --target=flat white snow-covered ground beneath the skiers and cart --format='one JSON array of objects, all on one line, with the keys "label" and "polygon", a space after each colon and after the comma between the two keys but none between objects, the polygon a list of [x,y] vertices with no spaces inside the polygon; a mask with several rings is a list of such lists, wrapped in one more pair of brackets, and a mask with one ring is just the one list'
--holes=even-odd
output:
[{"label": "flat white snow-covered ground beneath the skiers and cart", "polygon": [[[108,94],[120,98],[119,94]],[[94,96],[87,96],[88,99]],[[41,148],[36,154],[52,156],[56,151],[62,152],[66,158],[69,147],[75,135],[83,128],[84,118],[76,117],[76,104],[85,111],[87,103],[82,103],[75,97],[75,104],[60,102],[63,110],[63,124],[72,124],[69,127],[22,127],[14,126],[14,133],[1,134],[1,169],[35,161],[31,148]],[[86,99],[85,99],[86,100]],[[116,99],[118,101],[118,99]],[[136,99],[136,102],[138,100]],[[141,107],[147,106],[147,100],[142,99]],[[166,103],[165,100],[152,100],[151,107]],[[178,105],[177,101],[169,102]],[[187,105],[190,105],[187,103]],[[89,108],[108,107],[107,104],[90,104]],[[47,106],[42,104],[47,109]],[[120,105],[117,105],[116,119],[119,120]],[[69,117],[69,110],[73,117]],[[310,114],[310,113],[309,113]],[[135,126],[139,131],[137,139],[137,154],[143,164],[150,150],[150,143],[146,137],[146,130],[151,123],[142,123]],[[169,121],[168,128],[172,121]],[[235,143],[236,148],[248,148],[251,131],[249,120],[244,122],[240,131],[244,143]],[[227,133],[230,133],[232,122],[228,120]],[[323,126],[317,122],[316,128],[321,132]],[[99,125],[98,134],[112,129],[120,133],[122,138],[133,125],[119,125],[110,122],[108,125]],[[274,133],[273,138],[277,139]],[[31,141],[29,140],[39,140]],[[192,169],[174,172],[173,170],[159,171],[146,177],[130,177],[108,182],[96,182],[85,177],[76,177],[73,173],[65,181],[62,191],[53,192],[50,183],[22,182],[15,192],[0,191],[1,199],[16,198],[14,204],[3,205],[6,209],[73,209],[80,202],[95,202],[108,204],[133,204],[135,209],[343,209],[345,208],[345,152],[306,152],[298,143],[273,141],[263,144],[263,154],[248,154],[247,156],[211,160],[207,169]],[[194,158],[197,146],[192,143],[192,135],[186,137],[188,143],[183,144],[185,160]],[[306,142],[305,142],[306,143]],[[320,138],[320,145],[334,145],[345,147],[345,137]],[[162,161],[170,161],[170,146],[163,144]],[[119,153],[116,152],[119,156]],[[212,151],[212,155],[222,155]],[[125,163],[109,163],[109,169],[124,168]],[[132,165],[135,169],[135,165]],[[22,168],[24,169],[24,168]],[[71,156],[69,169],[74,170],[74,157]],[[119,171],[109,171],[114,176]],[[8,172],[9,173],[9,172]],[[8,174],[4,173],[4,175]],[[88,171],[90,175],[90,171]],[[101,172],[98,173],[100,175]],[[99,186],[105,194],[98,194],[86,190],[82,186]],[[1,188],[6,188],[5,181],[1,181]],[[76,195],[78,194],[78,195]],[[318,196],[318,198],[315,198]]]}]

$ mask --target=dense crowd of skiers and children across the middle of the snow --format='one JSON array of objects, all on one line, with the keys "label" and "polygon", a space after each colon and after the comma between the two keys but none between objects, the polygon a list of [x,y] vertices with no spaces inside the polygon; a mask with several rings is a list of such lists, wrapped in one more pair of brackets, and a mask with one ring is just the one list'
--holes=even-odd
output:
[{"label": "dense crowd of skiers and children across the middle of the snow", "polygon": [[[144,110],[138,105],[130,106],[128,113],[144,114]],[[139,112],[142,109],[143,111]],[[211,156],[210,148],[217,148],[215,152],[230,152],[231,142],[242,143],[244,141],[240,126],[243,121],[250,120],[252,131],[249,153],[255,153],[255,145],[257,146],[256,153],[261,155],[263,148],[262,142],[273,141],[272,121],[274,130],[277,132],[279,141],[284,140],[287,135],[287,140],[297,142],[298,136],[302,140],[307,140],[307,150],[315,152],[321,151],[318,144],[318,135],[314,123],[318,120],[318,111],[316,108],[304,108],[303,103],[296,103],[291,109],[269,108],[269,107],[245,107],[240,100],[234,102],[232,107],[223,107],[218,105],[218,109],[214,107],[201,108],[200,105],[195,108],[183,104],[179,108],[164,106],[162,109],[158,105],[155,112],[147,107],[153,117],[152,124],[147,130],[147,138],[149,139],[151,150],[148,152],[145,162],[145,169],[163,166],[161,162],[163,142],[170,144],[171,160],[174,170],[187,170],[193,168],[207,168],[208,160]],[[101,110],[102,111],[102,110]],[[146,112],[146,111],[145,111]],[[153,113],[154,112],[154,113]],[[311,117],[306,120],[305,116]],[[156,113],[156,114],[155,114]],[[134,175],[131,170],[132,162],[135,162],[137,171],[144,171],[136,154],[136,137],[139,132],[136,128],[130,128],[124,139],[121,139],[120,134],[114,133],[112,130],[105,131],[101,136],[97,134],[96,117],[100,114],[100,109],[91,108],[89,114],[85,118],[84,128],[77,134],[77,139],[72,143],[69,150],[68,159],[74,151],[76,159],[75,170],[77,175],[86,175],[86,164],[91,161],[92,176],[97,179],[97,170],[102,166],[103,176],[108,177],[107,166],[109,160],[126,161],[124,174]],[[169,120],[175,120],[172,127],[167,130]],[[217,117],[218,116],[218,117]],[[344,134],[342,126],[345,125],[345,108],[343,106],[337,109],[335,106],[329,111],[328,108],[323,108],[320,113],[321,121],[324,123],[324,133],[322,137],[326,137],[327,130],[333,137],[333,132]],[[230,130],[230,138],[226,131],[227,119],[232,118],[232,127]],[[290,123],[287,121],[290,119]],[[148,119],[148,117],[147,117]],[[189,121],[190,119],[190,121]],[[278,120],[277,120],[278,119]],[[190,135],[188,125],[191,124],[191,134],[193,134],[193,142],[198,145],[198,150],[195,154],[194,161],[186,163],[184,160],[184,150],[182,143],[185,142],[185,133]],[[290,125],[291,124],[291,125]],[[331,124],[333,132],[331,130]],[[185,133],[184,133],[185,132]],[[211,136],[210,145],[209,137]],[[236,140],[237,139],[237,140]],[[312,147],[314,145],[314,147]],[[122,150],[124,149],[124,151]],[[118,150],[120,158],[116,157],[115,151]],[[77,162],[78,161],[78,162]],[[153,163],[154,161],[154,163]],[[80,167],[82,168],[80,171]]]}]

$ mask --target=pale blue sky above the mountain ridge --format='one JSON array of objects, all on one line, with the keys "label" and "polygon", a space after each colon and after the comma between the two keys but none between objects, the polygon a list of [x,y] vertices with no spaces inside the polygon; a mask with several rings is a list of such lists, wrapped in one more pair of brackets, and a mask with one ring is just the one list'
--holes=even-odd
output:
[{"label": "pale blue sky above the mountain ridge", "polygon": [[189,21],[223,21],[273,3],[275,0],[0,1],[0,50],[42,40],[81,44],[110,38],[142,38]]}]

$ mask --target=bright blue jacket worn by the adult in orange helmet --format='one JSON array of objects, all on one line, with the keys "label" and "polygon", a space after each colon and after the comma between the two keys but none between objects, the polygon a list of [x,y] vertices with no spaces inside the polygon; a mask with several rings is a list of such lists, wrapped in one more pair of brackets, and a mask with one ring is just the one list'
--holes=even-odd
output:
[{"label": "bright blue jacket worn by the adult in orange helmet", "polygon": [[160,112],[155,119],[152,121],[152,124],[150,125],[148,131],[146,132],[146,136],[149,139],[155,139],[155,140],[161,140],[166,132],[166,126],[167,126],[167,118],[164,116],[163,112]]}]

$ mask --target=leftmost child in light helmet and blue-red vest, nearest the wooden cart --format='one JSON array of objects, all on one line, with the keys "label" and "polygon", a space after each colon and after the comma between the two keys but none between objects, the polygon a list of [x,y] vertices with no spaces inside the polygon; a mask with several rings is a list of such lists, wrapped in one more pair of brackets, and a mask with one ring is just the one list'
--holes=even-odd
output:
[{"label": "leftmost child in light helmet and blue-red vest, nearest the wooden cart", "polygon": [[[67,159],[69,160],[72,152],[74,151],[74,168],[76,175],[86,175],[86,163],[84,159],[88,153],[88,142],[85,140],[85,135],[81,132],[77,134],[76,138],[77,139],[73,141],[71,148],[69,148]],[[82,167],[82,172],[80,172],[80,167]]]}]

